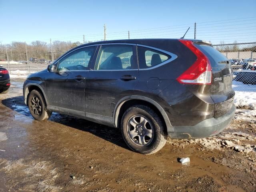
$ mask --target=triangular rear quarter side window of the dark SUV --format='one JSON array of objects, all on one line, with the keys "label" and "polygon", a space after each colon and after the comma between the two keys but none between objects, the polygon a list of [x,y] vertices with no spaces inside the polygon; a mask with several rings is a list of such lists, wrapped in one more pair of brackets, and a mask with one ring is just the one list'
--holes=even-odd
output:
[{"label": "triangular rear quarter side window of the dark SUV", "polygon": [[171,56],[147,47],[138,46],[140,69],[151,68],[171,58]]}]

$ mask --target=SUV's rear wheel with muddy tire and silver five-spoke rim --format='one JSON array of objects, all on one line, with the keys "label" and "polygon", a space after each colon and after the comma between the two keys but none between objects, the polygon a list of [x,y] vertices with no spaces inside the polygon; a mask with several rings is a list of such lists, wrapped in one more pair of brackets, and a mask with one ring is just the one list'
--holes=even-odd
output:
[{"label": "SUV's rear wheel with muddy tire and silver five-spoke rim", "polygon": [[126,144],[141,154],[158,152],[167,140],[161,118],[144,105],[132,106],[124,112],[121,131]]}]

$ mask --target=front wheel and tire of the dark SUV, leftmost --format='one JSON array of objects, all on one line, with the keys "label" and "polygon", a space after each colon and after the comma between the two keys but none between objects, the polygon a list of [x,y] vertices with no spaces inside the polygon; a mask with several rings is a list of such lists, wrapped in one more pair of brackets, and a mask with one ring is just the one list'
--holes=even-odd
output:
[{"label": "front wheel and tire of the dark SUV, leftmost", "polygon": [[34,119],[47,120],[52,112],[47,111],[44,96],[37,90],[32,90],[28,96],[28,108]]}]

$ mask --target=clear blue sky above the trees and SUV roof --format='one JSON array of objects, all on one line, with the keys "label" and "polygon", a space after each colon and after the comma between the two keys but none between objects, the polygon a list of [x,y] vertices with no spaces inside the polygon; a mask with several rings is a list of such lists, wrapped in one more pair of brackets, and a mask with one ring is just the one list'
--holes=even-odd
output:
[{"label": "clear blue sky above the trees and SUV roof", "polygon": [[256,0],[0,0],[0,42],[100,40],[104,24],[107,39],[128,38],[128,30],[131,38],[179,38],[188,26],[194,38],[194,22],[199,39],[250,42],[255,8]]}]

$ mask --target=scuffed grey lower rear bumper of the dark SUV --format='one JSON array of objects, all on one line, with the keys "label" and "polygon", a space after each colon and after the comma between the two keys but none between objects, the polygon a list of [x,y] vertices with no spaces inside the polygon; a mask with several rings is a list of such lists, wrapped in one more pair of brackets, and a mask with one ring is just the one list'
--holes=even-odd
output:
[{"label": "scuffed grey lower rear bumper of the dark SUV", "polygon": [[232,108],[218,118],[210,118],[194,126],[174,126],[167,128],[170,138],[206,138],[222,132],[231,122],[236,112],[236,107]]}]

